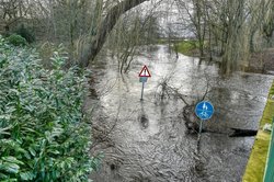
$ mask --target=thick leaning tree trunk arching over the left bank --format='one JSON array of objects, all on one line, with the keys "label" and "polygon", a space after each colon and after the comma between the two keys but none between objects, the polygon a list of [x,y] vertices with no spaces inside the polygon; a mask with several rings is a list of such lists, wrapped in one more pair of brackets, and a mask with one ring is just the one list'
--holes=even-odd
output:
[{"label": "thick leaning tree trunk arching over the left bank", "polygon": [[119,16],[145,1],[148,0],[124,0],[107,12],[105,19],[98,27],[95,36],[89,37],[89,43],[84,45],[84,49],[80,54],[80,67],[88,67],[90,60],[96,57]]}]

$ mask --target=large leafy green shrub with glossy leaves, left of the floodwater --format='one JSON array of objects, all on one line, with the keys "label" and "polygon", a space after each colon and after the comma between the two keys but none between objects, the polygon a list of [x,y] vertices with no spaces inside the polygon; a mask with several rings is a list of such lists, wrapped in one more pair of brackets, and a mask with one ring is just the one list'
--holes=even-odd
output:
[{"label": "large leafy green shrub with glossy leaves, left of the floodwater", "polygon": [[0,181],[88,181],[99,160],[81,112],[84,75],[62,70],[57,52],[53,70],[1,37],[0,53]]}]

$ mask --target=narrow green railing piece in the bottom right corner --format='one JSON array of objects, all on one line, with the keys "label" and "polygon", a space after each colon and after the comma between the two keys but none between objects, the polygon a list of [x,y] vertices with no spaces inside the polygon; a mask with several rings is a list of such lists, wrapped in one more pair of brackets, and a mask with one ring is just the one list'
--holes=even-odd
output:
[{"label": "narrow green railing piece in the bottom right corner", "polygon": [[266,159],[265,172],[264,172],[264,182],[274,182],[274,117],[272,120],[272,133],[270,140],[269,155]]}]

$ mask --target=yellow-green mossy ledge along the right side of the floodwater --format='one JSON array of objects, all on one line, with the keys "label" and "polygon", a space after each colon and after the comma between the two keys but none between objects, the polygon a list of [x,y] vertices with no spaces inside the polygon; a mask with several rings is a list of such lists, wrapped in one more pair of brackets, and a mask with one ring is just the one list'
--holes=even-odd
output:
[{"label": "yellow-green mossy ledge along the right side of the floodwater", "polygon": [[[269,155],[271,132],[263,129],[266,124],[272,124],[274,120],[274,81],[272,83],[267,102],[260,122],[254,145],[246,168],[242,182],[262,182]],[[273,127],[272,127],[273,128]]]}]

